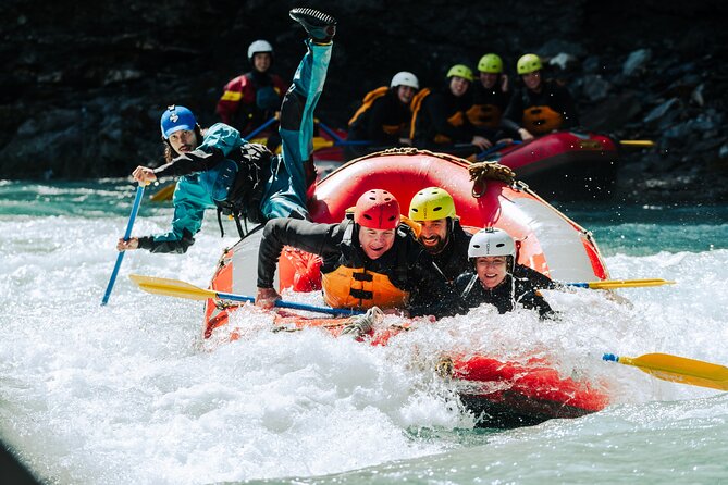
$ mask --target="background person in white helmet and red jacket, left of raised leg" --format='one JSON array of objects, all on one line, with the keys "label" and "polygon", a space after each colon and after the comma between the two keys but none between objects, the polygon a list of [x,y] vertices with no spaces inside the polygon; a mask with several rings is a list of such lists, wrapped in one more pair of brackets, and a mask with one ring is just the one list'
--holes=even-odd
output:
[{"label": "background person in white helmet and red jacket, left of raised leg", "polygon": [[243,134],[275,116],[286,89],[281,76],[269,72],[273,63],[273,47],[267,40],[250,43],[248,61],[252,71],[225,85],[215,109],[223,123]]}]

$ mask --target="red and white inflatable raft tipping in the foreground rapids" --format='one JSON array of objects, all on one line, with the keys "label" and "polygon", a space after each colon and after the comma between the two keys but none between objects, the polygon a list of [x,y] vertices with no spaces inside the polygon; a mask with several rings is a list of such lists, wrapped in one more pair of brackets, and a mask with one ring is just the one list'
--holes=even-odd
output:
[{"label": "red and white inflatable raft tipping in the foreground rapids", "polygon": [[[477,170],[472,172],[470,169]],[[430,186],[445,188],[455,199],[464,225],[494,226],[519,241],[518,262],[555,281],[582,282],[608,277],[591,234],[515,181],[497,164],[472,165],[452,156],[415,149],[395,149],[349,162],[312,187],[309,210],[317,222],[340,222],[359,195],[384,188],[403,208]],[[474,182],[471,176],[476,176]],[[226,250],[212,277],[217,291],[255,295],[257,232]],[[280,289],[320,288],[320,260],[297,250],[284,250],[279,265]],[[205,337],[225,331],[229,315],[238,307],[208,300]],[[291,324],[291,318],[285,324]],[[334,334],[336,321],[294,316],[297,326],[322,325]],[[387,337],[388,338],[388,337]],[[386,339],[377,338],[375,344]],[[591,383],[560,376],[543,362],[501,361],[497,356],[452,359],[451,378],[469,383],[462,402],[481,416],[483,426],[509,427],[551,418],[576,418],[603,409],[608,399]]]}]

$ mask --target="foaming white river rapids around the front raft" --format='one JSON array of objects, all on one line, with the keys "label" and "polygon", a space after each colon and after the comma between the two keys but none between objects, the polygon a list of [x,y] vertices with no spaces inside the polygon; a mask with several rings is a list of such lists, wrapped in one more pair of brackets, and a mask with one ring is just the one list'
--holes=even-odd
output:
[{"label": "foaming white river rapids around the front raft", "polygon": [[[131,203],[113,190],[104,200],[116,198],[111,214],[94,199],[79,213],[0,215],[0,435],[51,483],[536,483],[554,463],[566,482],[605,470],[659,481],[651,462],[698,482],[727,471],[718,459],[728,452],[725,394],[601,360],[603,352],[659,351],[728,364],[725,240],[634,254],[612,250],[596,234],[612,277],[676,285],[622,289],[617,299],[547,291],[564,313],[559,322],[481,308],[371,347],[318,329],[272,333],[271,318],[247,308],[233,319],[243,338],[227,343],[225,331],[202,339],[202,302],[149,295],[126,277],[205,287],[234,242],[219,237],[211,216],[185,256],[129,252],[109,306],[99,306]],[[134,234],[165,231],[170,213],[143,212]],[[609,231],[631,237],[634,229]],[[321,302],[316,294],[295,298]],[[468,350],[546,358],[564,375],[608,389],[613,402],[579,420],[474,430],[434,372],[440,356]],[[675,459],[676,446],[700,463]]]}]

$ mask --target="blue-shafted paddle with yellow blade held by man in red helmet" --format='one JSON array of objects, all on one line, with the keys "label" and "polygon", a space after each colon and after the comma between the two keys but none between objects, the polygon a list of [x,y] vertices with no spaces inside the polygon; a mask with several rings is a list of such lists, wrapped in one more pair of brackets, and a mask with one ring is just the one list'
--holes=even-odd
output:
[{"label": "blue-shafted paddle with yellow blade held by man in red helmet", "polygon": [[[163,295],[168,297],[187,298],[189,300],[207,300],[209,298],[218,300],[231,301],[249,301],[254,302],[254,297],[245,295],[235,295],[231,293],[214,291],[212,289],[203,289],[199,286],[182,282],[180,279],[160,278],[155,276],[144,276],[140,274],[129,274],[129,278],[136,283],[139,288],[147,293],[155,295]],[[306,310],[318,313],[328,313],[332,315],[358,315],[362,312],[357,310],[347,310],[342,308],[314,307],[312,304],[296,303],[293,301],[277,300],[276,307],[291,308],[294,310]]]}]

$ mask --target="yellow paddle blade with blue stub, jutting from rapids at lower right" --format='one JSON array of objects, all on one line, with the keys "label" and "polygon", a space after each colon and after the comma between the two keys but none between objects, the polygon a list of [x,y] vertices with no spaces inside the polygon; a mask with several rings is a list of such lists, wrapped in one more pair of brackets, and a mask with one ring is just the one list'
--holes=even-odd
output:
[{"label": "yellow paddle blade with blue stub, jutting from rapids at lower right", "polygon": [[668,353],[645,353],[634,358],[605,353],[602,359],[633,365],[642,372],[664,381],[728,390],[728,368],[725,365]]}]

